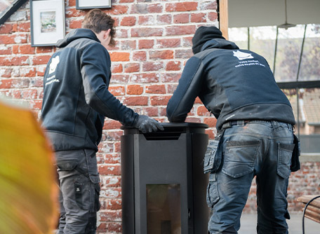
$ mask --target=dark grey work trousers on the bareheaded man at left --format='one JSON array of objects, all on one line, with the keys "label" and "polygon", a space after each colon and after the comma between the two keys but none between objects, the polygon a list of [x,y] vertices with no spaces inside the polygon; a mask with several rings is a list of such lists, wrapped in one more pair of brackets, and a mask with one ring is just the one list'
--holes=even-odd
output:
[{"label": "dark grey work trousers on the bareheaded man at left", "polygon": [[100,179],[93,150],[55,152],[60,180],[59,234],[94,234]]}]

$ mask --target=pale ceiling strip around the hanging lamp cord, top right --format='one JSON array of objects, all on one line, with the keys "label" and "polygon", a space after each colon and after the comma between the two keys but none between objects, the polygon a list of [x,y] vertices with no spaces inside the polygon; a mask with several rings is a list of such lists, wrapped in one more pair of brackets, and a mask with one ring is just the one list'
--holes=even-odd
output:
[{"label": "pale ceiling strip around the hanging lamp cord, top right", "polygon": [[[287,22],[320,24],[320,0],[287,0]],[[229,27],[282,25],[285,0],[228,0]]]}]

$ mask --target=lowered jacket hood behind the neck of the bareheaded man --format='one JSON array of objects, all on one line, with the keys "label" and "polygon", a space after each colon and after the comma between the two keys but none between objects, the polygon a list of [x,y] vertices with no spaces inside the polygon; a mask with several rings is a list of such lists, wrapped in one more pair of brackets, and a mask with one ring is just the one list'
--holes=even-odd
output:
[{"label": "lowered jacket hood behind the neck of the bareheaded man", "polygon": [[67,36],[65,36],[64,39],[57,41],[55,46],[57,46],[58,48],[62,48],[67,46],[69,43],[76,39],[84,38],[100,42],[98,37],[95,36],[95,33],[91,29],[74,29],[71,32],[69,32],[69,34],[67,34]]}]

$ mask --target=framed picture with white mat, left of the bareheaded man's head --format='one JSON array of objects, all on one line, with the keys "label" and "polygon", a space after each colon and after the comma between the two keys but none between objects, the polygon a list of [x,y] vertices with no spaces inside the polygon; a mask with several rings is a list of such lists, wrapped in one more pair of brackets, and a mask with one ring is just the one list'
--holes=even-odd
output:
[{"label": "framed picture with white mat, left of the bareheaded man's head", "polygon": [[31,46],[54,46],[65,37],[65,1],[32,0]]}]

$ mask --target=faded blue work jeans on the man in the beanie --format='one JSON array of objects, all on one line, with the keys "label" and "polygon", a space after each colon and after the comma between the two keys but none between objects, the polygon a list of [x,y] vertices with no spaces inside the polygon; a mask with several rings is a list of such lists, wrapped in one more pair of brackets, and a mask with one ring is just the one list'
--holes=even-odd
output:
[{"label": "faded blue work jeans on the man in the beanie", "polygon": [[209,175],[209,233],[237,233],[253,177],[257,183],[258,234],[286,234],[287,188],[291,174],[293,127],[251,121],[225,129],[219,170]]}]

